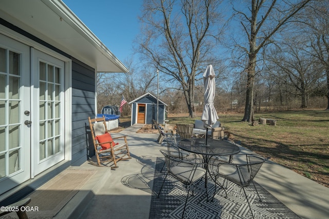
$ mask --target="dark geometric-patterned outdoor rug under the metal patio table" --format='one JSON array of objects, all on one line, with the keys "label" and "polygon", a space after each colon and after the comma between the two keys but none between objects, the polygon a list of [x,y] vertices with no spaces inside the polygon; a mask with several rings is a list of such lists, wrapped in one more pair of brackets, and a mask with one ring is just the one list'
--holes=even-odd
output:
[{"label": "dark geometric-patterned outdoor rug under the metal patio table", "polygon": [[[163,162],[163,158],[157,157],[150,219],[181,218],[187,195],[187,190],[183,184],[168,175],[160,197],[156,197],[165,178],[166,169],[163,168],[162,173],[159,172]],[[245,188],[255,218],[300,218],[263,187],[256,183],[255,186],[263,202],[259,202],[257,193],[252,185]],[[209,200],[212,198],[214,188],[213,182],[209,180]],[[207,202],[205,184],[204,181],[201,181],[195,186],[194,196],[189,196],[184,218],[252,218],[252,215],[241,188],[234,184],[229,184],[227,198],[225,198],[225,192],[221,190],[217,192],[213,202]]]}]

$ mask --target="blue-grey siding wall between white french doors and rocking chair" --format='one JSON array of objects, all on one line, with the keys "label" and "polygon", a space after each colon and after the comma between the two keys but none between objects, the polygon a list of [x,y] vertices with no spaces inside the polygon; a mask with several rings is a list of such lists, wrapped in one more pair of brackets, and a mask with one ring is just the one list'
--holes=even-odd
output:
[{"label": "blue-grey siding wall between white french doors and rocking chair", "polygon": [[95,155],[88,116],[95,117],[95,69],[72,58],[72,162]]}]

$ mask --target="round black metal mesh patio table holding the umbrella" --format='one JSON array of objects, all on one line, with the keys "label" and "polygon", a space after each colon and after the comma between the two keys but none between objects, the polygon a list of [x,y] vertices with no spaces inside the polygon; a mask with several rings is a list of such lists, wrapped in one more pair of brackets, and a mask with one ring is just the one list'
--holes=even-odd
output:
[{"label": "round black metal mesh patio table holding the umbrella", "polygon": [[[178,148],[191,153],[200,154],[203,156],[204,163],[206,164],[205,188],[207,192],[208,201],[208,162],[212,156],[230,156],[240,152],[240,147],[232,142],[225,140],[213,140],[212,138],[189,138],[178,142]],[[216,182],[215,182],[216,183]]]}]

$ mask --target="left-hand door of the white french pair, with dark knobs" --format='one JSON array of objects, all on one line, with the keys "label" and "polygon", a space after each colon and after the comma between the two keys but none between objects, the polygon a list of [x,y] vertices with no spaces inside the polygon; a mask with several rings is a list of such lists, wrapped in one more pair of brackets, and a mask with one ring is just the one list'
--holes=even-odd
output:
[{"label": "left-hand door of the white french pair, with dark knobs", "polygon": [[0,194],[30,178],[30,94],[30,48],[0,34]]}]

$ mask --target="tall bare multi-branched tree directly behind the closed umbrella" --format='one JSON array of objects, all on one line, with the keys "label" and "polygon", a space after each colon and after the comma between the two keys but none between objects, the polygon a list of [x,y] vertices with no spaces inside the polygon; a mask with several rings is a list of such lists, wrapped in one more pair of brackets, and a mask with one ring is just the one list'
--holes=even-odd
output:
[{"label": "tall bare multi-branched tree directly behind the closed umbrella", "polygon": [[218,0],[144,0],[139,52],[167,75],[172,88],[182,90],[191,117],[195,116],[195,80],[208,64],[216,68],[220,3]]}]

